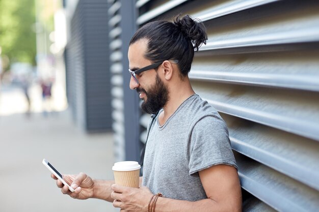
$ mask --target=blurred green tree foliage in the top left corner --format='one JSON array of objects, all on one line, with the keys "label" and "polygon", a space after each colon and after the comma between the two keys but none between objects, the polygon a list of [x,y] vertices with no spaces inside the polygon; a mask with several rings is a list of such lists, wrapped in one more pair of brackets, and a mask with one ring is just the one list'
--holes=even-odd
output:
[{"label": "blurred green tree foliage in the top left corner", "polygon": [[0,46],[12,62],[35,65],[34,0],[0,0]]}]

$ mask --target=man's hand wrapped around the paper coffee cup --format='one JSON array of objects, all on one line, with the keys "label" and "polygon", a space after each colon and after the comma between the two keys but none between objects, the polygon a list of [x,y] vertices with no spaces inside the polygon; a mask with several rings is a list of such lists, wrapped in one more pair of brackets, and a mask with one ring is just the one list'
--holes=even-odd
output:
[{"label": "man's hand wrapped around the paper coffee cup", "polygon": [[153,194],[147,187],[137,189],[114,184],[111,188],[114,207],[119,207],[121,211],[126,212],[148,211],[148,202]]}]

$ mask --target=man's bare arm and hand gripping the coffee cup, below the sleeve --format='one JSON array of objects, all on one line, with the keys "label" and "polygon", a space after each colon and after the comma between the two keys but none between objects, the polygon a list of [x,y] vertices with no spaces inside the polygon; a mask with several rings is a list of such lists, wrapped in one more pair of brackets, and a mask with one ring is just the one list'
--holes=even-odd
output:
[{"label": "man's bare arm and hand gripping the coffee cup, below the sleeve", "polygon": [[[157,212],[240,212],[242,211],[242,193],[237,170],[233,166],[216,165],[199,172],[207,199],[191,202],[159,197],[156,202]],[[152,197],[149,190],[112,186],[113,205],[130,208],[130,211],[147,212],[148,202]],[[132,210],[137,208],[137,210]]]}]

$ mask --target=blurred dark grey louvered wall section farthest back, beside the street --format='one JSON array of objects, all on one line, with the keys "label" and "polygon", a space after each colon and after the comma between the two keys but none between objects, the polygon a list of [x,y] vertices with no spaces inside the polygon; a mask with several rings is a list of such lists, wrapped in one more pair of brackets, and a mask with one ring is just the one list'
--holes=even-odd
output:
[{"label": "blurred dark grey louvered wall section farthest back, beside the street", "polygon": [[79,0],[66,47],[67,96],[77,125],[87,132],[111,130],[108,4]]}]

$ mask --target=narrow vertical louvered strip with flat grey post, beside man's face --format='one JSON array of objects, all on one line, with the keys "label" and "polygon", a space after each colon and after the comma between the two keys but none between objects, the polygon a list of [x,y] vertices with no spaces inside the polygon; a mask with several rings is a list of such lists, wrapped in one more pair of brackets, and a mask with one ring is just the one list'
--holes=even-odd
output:
[{"label": "narrow vertical louvered strip with flat grey post, beside man's face", "polygon": [[108,0],[108,3],[115,161],[137,161],[141,149],[139,98],[130,90],[130,74],[125,71],[128,44],[136,31],[135,1]]}]

